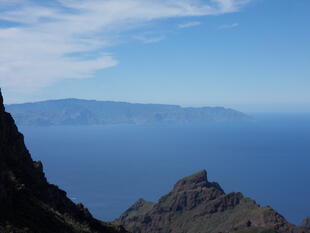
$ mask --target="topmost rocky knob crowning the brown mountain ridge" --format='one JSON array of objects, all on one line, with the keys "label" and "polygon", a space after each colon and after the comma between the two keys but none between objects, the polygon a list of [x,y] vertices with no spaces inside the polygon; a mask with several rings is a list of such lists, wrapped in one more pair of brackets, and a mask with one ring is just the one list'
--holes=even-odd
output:
[{"label": "topmost rocky knob crowning the brown mountain ridge", "polygon": [[224,194],[221,186],[216,182],[209,182],[207,171],[201,170],[191,176],[179,180],[173,187],[173,192],[182,192],[203,188],[215,188]]}]

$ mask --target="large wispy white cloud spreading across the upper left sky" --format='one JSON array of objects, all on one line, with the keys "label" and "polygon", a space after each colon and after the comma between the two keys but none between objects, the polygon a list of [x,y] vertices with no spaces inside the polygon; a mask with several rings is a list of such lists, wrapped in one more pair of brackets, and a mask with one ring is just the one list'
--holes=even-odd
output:
[{"label": "large wispy white cloud spreading across the upper left sky", "polygon": [[[104,53],[121,35],[159,19],[220,15],[246,0],[0,0],[0,86],[33,91],[64,78],[89,78],[117,61]],[[13,6],[13,7],[12,7]],[[192,25],[193,26],[193,25]],[[126,32],[126,33],[125,33]],[[143,35],[143,34],[142,34]],[[164,36],[139,39],[154,43]]]}]

